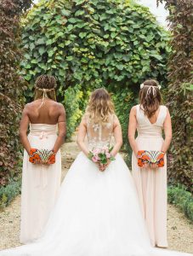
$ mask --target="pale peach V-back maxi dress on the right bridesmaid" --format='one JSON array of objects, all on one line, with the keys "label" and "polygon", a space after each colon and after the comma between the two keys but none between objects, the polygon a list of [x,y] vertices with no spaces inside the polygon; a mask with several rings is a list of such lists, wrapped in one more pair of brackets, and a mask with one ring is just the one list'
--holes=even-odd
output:
[{"label": "pale peach V-back maxi dress on the right bridesmaid", "polygon": [[[161,150],[162,128],[167,108],[160,106],[156,123],[151,124],[144,111],[137,109],[136,142],[139,150]],[[152,246],[167,247],[167,162],[156,170],[139,168],[137,158],[132,155],[132,172],[136,184],[140,207],[150,235]]]}]

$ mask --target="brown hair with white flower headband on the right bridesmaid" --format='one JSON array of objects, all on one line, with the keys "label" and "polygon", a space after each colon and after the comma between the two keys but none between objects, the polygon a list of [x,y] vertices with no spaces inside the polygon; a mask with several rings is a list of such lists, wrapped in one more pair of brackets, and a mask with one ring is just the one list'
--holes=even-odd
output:
[{"label": "brown hair with white flower headband on the right bridesmaid", "polygon": [[162,95],[156,80],[145,80],[143,85],[139,90],[140,108],[145,111],[148,118],[151,118],[162,104]]}]

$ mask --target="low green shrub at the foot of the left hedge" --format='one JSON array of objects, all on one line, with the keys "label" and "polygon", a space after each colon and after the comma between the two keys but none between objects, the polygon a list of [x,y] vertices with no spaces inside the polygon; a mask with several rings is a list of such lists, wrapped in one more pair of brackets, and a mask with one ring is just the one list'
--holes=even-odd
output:
[{"label": "low green shrub at the foot of the left hedge", "polygon": [[0,209],[3,210],[14,199],[16,195],[20,194],[21,181],[12,181],[7,186],[0,188]]}]

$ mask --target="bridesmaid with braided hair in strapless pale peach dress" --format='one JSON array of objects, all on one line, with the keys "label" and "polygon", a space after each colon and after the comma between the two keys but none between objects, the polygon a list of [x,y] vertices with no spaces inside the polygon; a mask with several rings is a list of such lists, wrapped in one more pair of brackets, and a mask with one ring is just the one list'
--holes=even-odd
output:
[{"label": "bridesmaid with braided hair in strapless pale peach dress", "polygon": [[[24,159],[21,189],[20,242],[36,240],[47,223],[60,190],[60,146],[65,138],[65,109],[56,102],[56,81],[41,75],[35,83],[35,100],[26,104],[20,121]],[[30,133],[27,136],[28,126]],[[58,129],[58,135],[57,135]],[[53,150],[55,163],[29,162],[31,148]]]}]

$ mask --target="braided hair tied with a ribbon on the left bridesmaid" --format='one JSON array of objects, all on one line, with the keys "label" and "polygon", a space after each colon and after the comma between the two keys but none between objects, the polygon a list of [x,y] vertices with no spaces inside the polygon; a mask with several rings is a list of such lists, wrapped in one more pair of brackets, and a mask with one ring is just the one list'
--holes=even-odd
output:
[{"label": "braided hair tied with a ribbon on the left bridesmaid", "polygon": [[54,76],[45,74],[37,77],[34,100],[49,98],[56,102],[55,88],[56,80]]}]

